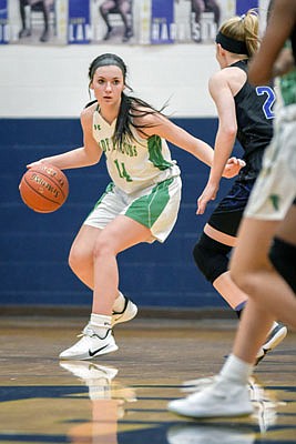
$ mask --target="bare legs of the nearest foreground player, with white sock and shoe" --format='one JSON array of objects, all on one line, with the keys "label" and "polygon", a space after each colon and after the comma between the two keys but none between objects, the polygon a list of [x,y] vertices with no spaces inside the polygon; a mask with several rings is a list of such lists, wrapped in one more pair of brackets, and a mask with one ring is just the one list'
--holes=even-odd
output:
[{"label": "bare legs of the nearest foreground player, with white sock and shoe", "polygon": [[[244,218],[239,242],[231,260],[231,273],[248,297],[238,324],[233,353],[206,389],[169,403],[169,410],[193,417],[249,414],[248,394],[257,352],[275,319],[296,326],[296,299],[268,261],[278,221]],[[256,252],[254,254],[254,252]]]}]

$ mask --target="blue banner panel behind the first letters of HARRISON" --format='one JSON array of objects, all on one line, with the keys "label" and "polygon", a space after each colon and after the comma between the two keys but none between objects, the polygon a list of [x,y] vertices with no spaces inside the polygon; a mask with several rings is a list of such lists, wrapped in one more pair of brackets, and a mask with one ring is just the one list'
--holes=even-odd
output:
[{"label": "blue banner panel behind the first letters of HARRISON", "polygon": [[174,43],[174,0],[152,0],[151,43]]}]

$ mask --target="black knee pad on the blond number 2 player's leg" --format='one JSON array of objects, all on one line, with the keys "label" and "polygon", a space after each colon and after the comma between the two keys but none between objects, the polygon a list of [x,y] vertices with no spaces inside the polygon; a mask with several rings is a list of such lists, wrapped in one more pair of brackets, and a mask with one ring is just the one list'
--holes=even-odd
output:
[{"label": "black knee pad on the blond number 2 player's leg", "polygon": [[207,281],[213,283],[227,271],[229,251],[231,246],[214,241],[205,233],[201,235],[200,241],[194,246],[193,256]]}]

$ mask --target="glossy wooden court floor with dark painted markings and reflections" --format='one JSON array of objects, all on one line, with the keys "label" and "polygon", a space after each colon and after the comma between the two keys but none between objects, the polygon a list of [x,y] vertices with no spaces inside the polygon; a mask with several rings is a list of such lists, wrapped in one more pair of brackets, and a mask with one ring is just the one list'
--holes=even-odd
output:
[{"label": "glossy wooden court floor with dark painted markings and reflections", "polygon": [[296,443],[295,333],[256,369],[253,416],[193,421],[166,404],[220,371],[235,320],[137,319],[114,329],[118,352],[63,363],[85,319],[0,320],[0,443]]}]

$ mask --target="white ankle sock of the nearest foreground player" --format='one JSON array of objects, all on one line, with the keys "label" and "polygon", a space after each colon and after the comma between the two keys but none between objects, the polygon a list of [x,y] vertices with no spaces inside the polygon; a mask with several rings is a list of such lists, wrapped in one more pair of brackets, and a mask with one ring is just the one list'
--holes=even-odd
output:
[{"label": "white ankle sock of the nearest foreground player", "polygon": [[231,383],[245,385],[253,373],[253,365],[231,354],[223,365],[220,375]]}]

